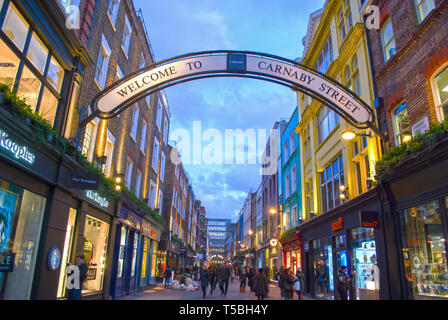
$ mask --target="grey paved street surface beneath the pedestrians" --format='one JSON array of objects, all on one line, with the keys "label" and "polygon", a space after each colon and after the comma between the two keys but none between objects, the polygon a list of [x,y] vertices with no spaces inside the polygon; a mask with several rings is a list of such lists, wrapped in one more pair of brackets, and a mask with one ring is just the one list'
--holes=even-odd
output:
[{"label": "grey paved street surface beneath the pedestrians", "polygon": [[[249,287],[246,286],[245,292],[239,291],[239,281],[234,280],[233,283],[229,282],[229,290],[227,296],[221,296],[219,286],[216,286],[216,290],[210,295],[210,287],[207,288],[207,296],[202,298],[202,290],[195,290],[187,292],[185,290],[165,289],[161,286],[153,287],[138,294],[123,298],[124,300],[256,300],[256,296],[253,292],[250,292]],[[294,299],[297,299],[297,295],[294,295]],[[309,298],[305,298],[309,299]],[[277,283],[269,285],[269,296],[266,300],[281,300],[280,288]]]}]

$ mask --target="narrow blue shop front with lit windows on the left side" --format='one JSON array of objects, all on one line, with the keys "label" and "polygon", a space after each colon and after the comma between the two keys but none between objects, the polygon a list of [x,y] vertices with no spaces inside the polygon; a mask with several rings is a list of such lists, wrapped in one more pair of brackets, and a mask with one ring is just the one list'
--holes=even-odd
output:
[{"label": "narrow blue shop front with lit windows on the left side", "polygon": [[142,220],[124,204],[118,210],[114,249],[116,276],[111,286],[114,298],[131,295],[137,288]]}]

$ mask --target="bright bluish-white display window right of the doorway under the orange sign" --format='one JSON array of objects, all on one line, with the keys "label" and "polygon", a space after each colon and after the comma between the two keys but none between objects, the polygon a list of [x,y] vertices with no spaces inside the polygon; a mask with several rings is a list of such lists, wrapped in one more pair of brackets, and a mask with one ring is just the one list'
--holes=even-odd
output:
[{"label": "bright bluish-white display window right of the doorway under the orange sign", "polygon": [[[355,273],[355,295],[357,300],[379,300],[380,269],[374,229],[352,230],[353,265]],[[352,293],[353,294],[353,293]]]}]

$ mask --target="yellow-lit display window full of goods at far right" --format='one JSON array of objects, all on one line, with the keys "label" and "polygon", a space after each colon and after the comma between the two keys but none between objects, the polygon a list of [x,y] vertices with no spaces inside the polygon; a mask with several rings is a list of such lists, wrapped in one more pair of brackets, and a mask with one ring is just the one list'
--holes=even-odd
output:
[{"label": "yellow-lit display window full of goods at far right", "polygon": [[447,298],[447,248],[439,201],[404,210],[400,223],[403,263],[414,298]]}]

